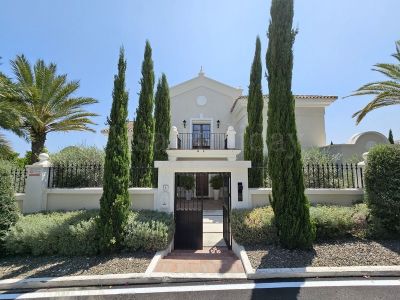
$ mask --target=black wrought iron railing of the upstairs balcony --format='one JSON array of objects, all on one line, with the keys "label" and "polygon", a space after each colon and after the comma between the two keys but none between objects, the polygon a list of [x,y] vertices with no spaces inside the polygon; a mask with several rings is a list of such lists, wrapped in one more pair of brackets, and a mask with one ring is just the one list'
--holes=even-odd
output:
[{"label": "black wrought iron railing of the upstairs balcony", "polygon": [[179,133],[178,149],[227,149],[227,138],[225,133]]}]

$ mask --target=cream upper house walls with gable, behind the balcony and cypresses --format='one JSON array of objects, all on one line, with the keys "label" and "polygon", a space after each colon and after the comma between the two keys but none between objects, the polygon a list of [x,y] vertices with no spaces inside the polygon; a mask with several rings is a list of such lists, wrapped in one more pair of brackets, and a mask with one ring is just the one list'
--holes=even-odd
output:
[{"label": "cream upper house walls with gable, behind the balcony and cypresses", "polygon": [[[217,82],[200,72],[197,77],[171,87],[171,124],[179,133],[192,133],[193,124],[198,123],[210,124],[212,133],[225,133],[229,126],[233,126],[237,133],[236,148],[242,150],[247,126],[247,97],[242,93],[241,89]],[[268,96],[264,99],[265,138]],[[326,145],[325,107],[336,99],[336,96],[295,96],[297,131],[303,147]]]}]

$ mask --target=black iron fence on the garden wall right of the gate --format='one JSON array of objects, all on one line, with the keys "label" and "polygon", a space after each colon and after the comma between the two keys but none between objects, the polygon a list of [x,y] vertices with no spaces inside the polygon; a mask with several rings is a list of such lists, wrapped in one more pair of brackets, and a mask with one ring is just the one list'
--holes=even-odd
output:
[{"label": "black iron fence on the garden wall right of the gate", "polygon": [[[262,169],[264,182],[260,187],[272,187],[267,168],[253,167],[252,169]],[[364,188],[363,171],[357,164],[303,165],[304,186],[312,189]]]}]

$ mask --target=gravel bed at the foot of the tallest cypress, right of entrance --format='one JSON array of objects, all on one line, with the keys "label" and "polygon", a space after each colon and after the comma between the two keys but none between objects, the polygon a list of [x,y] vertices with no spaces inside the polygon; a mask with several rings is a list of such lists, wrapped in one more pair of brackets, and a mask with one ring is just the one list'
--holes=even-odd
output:
[{"label": "gravel bed at the foot of the tallest cypress, right of entrance", "polygon": [[400,240],[346,239],[316,243],[312,250],[286,250],[278,245],[247,246],[255,269],[400,265]]}]

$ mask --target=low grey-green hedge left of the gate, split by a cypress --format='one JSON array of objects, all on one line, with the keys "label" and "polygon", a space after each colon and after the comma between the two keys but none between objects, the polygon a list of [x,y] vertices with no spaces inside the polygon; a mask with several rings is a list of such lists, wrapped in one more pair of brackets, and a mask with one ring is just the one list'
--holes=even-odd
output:
[{"label": "low grey-green hedge left of the gate, split by a cypress", "polygon": [[[9,255],[95,255],[101,250],[97,211],[38,213],[21,217],[5,237]],[[157,251],[173,236],[173,218],[160,212],[131,211],[121,250]]]}]

